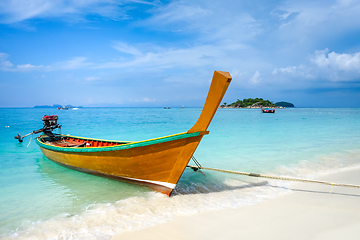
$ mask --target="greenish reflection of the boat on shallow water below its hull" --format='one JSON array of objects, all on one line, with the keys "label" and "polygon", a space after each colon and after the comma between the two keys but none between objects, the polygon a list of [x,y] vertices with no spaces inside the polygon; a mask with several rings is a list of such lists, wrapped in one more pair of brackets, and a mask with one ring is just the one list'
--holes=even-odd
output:
[{"label": "greenish reflection of the boat on shallow water below its hull", "polygon": [[[149,190],[146,187],[113,181],[83,172],[64,168],[45,157],[38,160],[38,172],[44,185],[51,185],[44,204],[61,207],[68,212],[78,212],[94,203],[116,202],[129,197],[143,196]],[[49,200],[49,197],[51,200]]]}]

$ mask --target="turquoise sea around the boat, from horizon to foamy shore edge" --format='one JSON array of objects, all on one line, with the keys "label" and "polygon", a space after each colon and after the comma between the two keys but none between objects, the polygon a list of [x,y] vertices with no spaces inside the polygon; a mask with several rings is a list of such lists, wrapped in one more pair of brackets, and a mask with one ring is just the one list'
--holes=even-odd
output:
[{"label": "turquoise sea around the boat, from horizon to foamy shore edge", "polygon": [[[288,192],[287,182],[187,169],[169,198],[64,168],[44,157],[31,138],[14,139],[41,128],[45,114],[58,115],[65,134],[136,141],[185,132],[200,112],[0,109],[0,239],[109,239],[176,215],[253,204]],[[195,152],[206,167],[316,178],[360,166],[360,109],[288,108],[275,114],[219,109],[209,130]]]}]

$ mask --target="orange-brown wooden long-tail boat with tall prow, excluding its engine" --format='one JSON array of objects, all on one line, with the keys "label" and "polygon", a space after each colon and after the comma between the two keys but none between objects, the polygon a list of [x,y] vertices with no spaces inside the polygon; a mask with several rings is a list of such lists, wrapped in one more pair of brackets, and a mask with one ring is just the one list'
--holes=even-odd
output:
[{"label": "orange-brown wooden long-tail boat with tall prow, excluding its engine", "polygon": [[109,141],[69,135],[40,135],[36,143],[50,160],[91,174],[149,187],[168,196],[193,156],[231,82],[215,71],[199,119],[184,133],[139,142]]}]

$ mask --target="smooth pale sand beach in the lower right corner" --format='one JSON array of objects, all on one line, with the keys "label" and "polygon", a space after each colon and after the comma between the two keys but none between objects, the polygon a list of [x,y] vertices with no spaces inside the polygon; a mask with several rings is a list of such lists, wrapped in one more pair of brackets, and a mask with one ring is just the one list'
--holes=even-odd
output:
[{"label": "smooth pale sand beach in the lower right corner", "polygon": [[[360,168],[318,180],[360,185]],[[168,223],[121,232],[125,239],[360,239],[360,189],[296,183],[292,193],[235,209],[178,216]]]}]

